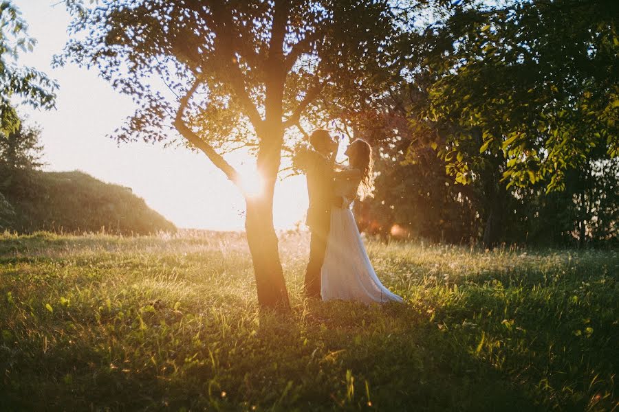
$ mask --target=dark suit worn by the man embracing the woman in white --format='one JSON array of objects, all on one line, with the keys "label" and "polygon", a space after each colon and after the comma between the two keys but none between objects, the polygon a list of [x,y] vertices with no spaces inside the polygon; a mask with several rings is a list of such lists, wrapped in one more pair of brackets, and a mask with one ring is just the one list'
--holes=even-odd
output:
[{"label": "dark suit worn by the man embracing the woman in white", "polygon": [[[331,224],[331,207],[336,202],[333,187],[333,163],[314,150],[307,153],[305,172],[310,207],[305,224],[310,228],[310,262],[305,271],[305,294],[321,297],[321,268],[325,260]],[[341,200],[340,200],[341,203]]]}]

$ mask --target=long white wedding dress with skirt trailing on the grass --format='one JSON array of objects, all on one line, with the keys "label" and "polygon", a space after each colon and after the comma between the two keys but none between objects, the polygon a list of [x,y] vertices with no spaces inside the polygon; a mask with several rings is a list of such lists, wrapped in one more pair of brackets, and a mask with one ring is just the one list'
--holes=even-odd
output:
[{"label": "long white wedding dress with skirt trailing on the grass", "polygon": [[367,257],[351,201],[359,185],[356,181],[336,179],[335,194],[345,198],[344,207],[332,207],[331,229],[321,273],[323,301],[345,299],[372,302],[398,301],[402,298],[382,286]]}]

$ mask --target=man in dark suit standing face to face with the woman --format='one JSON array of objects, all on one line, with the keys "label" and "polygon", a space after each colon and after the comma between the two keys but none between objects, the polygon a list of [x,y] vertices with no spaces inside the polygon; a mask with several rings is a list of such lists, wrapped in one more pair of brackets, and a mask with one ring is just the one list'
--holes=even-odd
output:
[{"label": "man in dark suit standing face to face with the woman", "polygon": [[307,176],[307,194],[310,198],[305,222],[310,228],[310,262],[307,263],[303,289],[305,296],[320,299],[321,268],[327,250],[331,207],[338,200],[333,194],[333,167],[338,142],[327,130],[317,129],[310,135],[310,145],[312,149],[305,151],[297,161]]}]

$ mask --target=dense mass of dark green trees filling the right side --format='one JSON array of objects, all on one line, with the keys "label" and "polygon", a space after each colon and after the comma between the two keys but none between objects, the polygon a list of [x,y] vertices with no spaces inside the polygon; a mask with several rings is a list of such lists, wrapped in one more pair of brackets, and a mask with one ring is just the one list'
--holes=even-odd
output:
[{"label": "dense mass of dark green trees filling the right side", "polygon": [[[384,96],[376,112],[383,120],[364,126],[381,153],[376,197],[365,209],[387,230],[397,223],[459,241],[466,232],[488,246],[598,242],[598,212],[599,233],[612,233],[616,4],[454,4],[438,4],[396,47],[406,75]],[[410,122],[396,122],[393,133],[402,117]],[[420,222],[432,229],[421,231]]]}]

